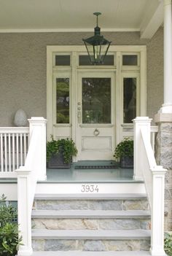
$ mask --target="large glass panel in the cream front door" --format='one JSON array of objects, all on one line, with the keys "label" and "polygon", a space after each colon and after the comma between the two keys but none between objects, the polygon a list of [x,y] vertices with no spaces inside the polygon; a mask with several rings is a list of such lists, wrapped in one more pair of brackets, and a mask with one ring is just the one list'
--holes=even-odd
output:
[{"label": "large glass panel in the cream front door", "polygon": [[82,78],[82,123],[111,123],[111,78]]}]

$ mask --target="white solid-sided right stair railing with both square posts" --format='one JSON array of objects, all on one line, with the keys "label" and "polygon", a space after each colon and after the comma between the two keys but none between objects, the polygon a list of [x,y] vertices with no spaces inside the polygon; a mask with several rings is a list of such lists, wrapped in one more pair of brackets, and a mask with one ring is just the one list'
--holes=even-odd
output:
[{"label": "white solid-sided right stair railing with both square posts", "polygon": [[136,117],[134,123],[134,179],[144,179],[151,209],[151,248],[152,255],[165,255],[164,252],[164,189],[165,169],[157,166],[150,142],[148,117]]}]

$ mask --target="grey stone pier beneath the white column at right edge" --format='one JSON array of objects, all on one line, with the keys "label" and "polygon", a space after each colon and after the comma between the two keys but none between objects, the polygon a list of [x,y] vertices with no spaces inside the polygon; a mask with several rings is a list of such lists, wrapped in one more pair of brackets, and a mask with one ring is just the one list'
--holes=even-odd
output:
[{"label": "grey stone pier beneath the white column at right edge", "polygon": [[165,230],[172,230],[172,115],[171,122],[158,122],[156,139],[157,164],[167,169],[165,174]]}]

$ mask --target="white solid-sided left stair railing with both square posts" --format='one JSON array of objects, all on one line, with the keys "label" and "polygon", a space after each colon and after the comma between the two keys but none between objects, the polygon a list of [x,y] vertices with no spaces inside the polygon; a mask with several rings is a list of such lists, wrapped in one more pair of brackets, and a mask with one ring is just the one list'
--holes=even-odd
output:
[{"label": "white solid-sided left stair railing with both square posts", "polygon": [[37,180],[46,179],[46,123],[43,117],[32,117],[30,123],[30,143],[25,166],[17,173],[18,223],[23,245],[17,255],[32,255],[31,210],[34,202]]}]

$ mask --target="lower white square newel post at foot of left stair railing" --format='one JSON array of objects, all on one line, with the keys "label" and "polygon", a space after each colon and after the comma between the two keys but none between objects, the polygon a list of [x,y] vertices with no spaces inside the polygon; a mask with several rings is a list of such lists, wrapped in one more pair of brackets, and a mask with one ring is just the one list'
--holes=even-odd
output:
[{"label": "lower white square newel post at foot of left stair railing", "polygon": [[31,171],[26,171],[23,166],[15,170],[17,172],[17,214],[19,235],[22,236],[17,255],[30,256],[33,253],[31,247]]}]

